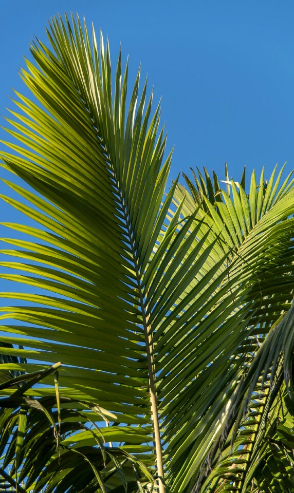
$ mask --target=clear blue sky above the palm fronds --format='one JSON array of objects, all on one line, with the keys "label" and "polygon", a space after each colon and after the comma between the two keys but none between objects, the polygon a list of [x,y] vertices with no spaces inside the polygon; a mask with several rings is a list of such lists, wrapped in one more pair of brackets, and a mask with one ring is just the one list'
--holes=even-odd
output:
[{"label": "clear blue sky above the palm fronds", "polygon": [[[237,180],[276,162],[294,167],[294,2],[284,0],[51,0],[1,3],[0,113],[34,35],[58,12],[78,12],[108,34],[113,64],[119,44],[131,73],[142,63],[155,101],[162,96],[172,177],[190,166],[224,162]],[[3,132],[0,133],[3,138]]]}]

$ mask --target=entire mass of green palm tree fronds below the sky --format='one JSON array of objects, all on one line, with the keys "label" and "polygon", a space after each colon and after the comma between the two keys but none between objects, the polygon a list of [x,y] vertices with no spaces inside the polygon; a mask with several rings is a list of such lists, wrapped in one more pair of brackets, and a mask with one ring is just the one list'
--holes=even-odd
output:
[{"label": "entire mass of green palm tree fronds below the sky", "polygon": [[[1,277],[29,289],[1,294],[13,300],[4,324],[14,320],[0,335],[2,381],[37,372],[44,384],[26,384],[3,418],[0,444],[21,428],[8,437],[16,487],[19,469],[27,492],[287,491],[291,176],[253,173],[247,194],[245,173],[226,172],[223,191],[205,170],[165,195],[171,154],[140,70],[128,98],[127,64],[119,53],[112,79],[102,35],[98,49],[94,29],[67,17],[47,34],[50,49],[31,46],[21,75],[33,98],[16,93],[1,152],[22,179],[4,180],[13,197],[2,199],[29,218],[5,223],[17,238],[2,254],[18,261],[2,261],[13,273]],[[40,372],[59,361],[52,386]]]}]

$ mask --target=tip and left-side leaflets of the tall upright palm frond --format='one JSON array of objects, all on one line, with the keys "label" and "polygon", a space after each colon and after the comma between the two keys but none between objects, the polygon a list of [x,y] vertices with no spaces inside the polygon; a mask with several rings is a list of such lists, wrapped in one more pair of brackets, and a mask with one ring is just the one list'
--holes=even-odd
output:
[{"label": "tip and left-side leaflets of the tall upright palm frond", "polygon": [[62,359],[61,394],[113,409],[118,423],[135,428],[112,426],[111,441],[133,445],[132,452],[140,454],[151,448],[142,444],[151,441],[154,414],[141,271],[171,202],[170,195],[159,214],[170,157],[160,170],[165,139],[162,131],[156,138],[158,109],[148,123],[152,98],[143,113],[145,87],[135,112],[139,74],[126,110],[127,68],[121,88],[119,55],[113,111],[108,45],[104,53],[101,37],[99,60],[94,31],[92,55],[79,22],[73,23],[75,34],[66,24],[67,34],[62,22],[52,21],[54,55],[44,45],[32,47],[39,68],[28,62],[23,78],[43,108],[20,96],[25,116],[14,112],[20,123],[11,121],[17,132],[9,131],[26,147],[12,145],[21,156],[3,153],[6,166],[44,197],[7,182],[30,206],[3,198],[41,224],[26,233],[46,242],[8,239],[16,250],[3,253],[23,263],[2,265],[23,273],[3,277],[48,294],[13,294],[33,305],[4,308],[3,319],[21,325],[3,331],[13,330],[26,347],[7,353],[26,354],[38,367]]}]

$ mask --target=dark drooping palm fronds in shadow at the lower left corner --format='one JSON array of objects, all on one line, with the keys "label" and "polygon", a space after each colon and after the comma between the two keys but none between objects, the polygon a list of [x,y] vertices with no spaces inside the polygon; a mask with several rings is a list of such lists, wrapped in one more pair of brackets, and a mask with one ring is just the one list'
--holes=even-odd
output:
[{"label": "dark drooping palm fronds in shadow at the lower left corner", "polygon": [[[60,397],[58,368],[11,378],[1,385],[0,477],[2,491],[143,491],[152,477],[140,461],[109,447],[109,422],[116,416],[94,403]],[[56,396],[28,397],[41,378],[54,372]],[[85,409],[86,408],[86,409]],[[95,421],[93,421],[95,420]]]}]

